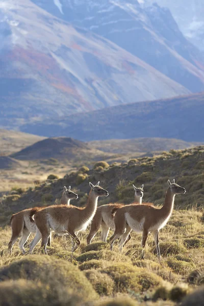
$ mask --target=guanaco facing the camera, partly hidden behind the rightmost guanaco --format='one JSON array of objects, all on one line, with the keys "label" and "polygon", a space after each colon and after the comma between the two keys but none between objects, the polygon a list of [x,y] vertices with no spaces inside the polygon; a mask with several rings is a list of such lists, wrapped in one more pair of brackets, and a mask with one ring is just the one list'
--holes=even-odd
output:
[{"label": "guanaco facing the camera, partly hidden behind the rightmost guanaco", "polygon": [[[141,188],[137,188],[133,185],[133,188],[135,190],[135,203],[141,204],[144,185],[142,185]],[[114,208],[119,208],[122,206],[123,205],[119,203],[114,203],[114,204],[110,203],[107,205],[101,205],[97,208],[96,214],[91,222],[90,232],[87,236],[87,244],[91,243],[91,240],[99,231],[100,226],[102,228],[100,239],[104,242],[107,242],[107,237],[110,228],[111,230],[115,230],[115,223],[111,212]],[[131,239],[131,234],[129,235],[125,243],[130,239]]]}]

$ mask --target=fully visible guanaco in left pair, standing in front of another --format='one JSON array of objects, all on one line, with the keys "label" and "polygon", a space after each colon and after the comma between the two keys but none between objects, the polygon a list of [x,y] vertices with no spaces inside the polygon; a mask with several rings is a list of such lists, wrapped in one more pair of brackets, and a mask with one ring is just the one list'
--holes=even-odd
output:
[{"label": "fully visible guanaco in left pair, standing in front of another", "polygon": [[84,208],[61,205],[49,206],[43,210],[34,208],[31,211],[30,217],[35,221],[37,228],[36,236],[30,244],[30,253],[42,238],[41,247],[47,254],[46,245],[51,231],[59,235],[70,235],[72,241],[75,241],[75,245],[72,245],[72,251],[77,249],[81,242],[76,233],[86,230],[92,221],[97,209],[98,197],[109,195],[107,190],[99,186],[99,182],[95,186],[91,183],[89,185],[91,191]]}]

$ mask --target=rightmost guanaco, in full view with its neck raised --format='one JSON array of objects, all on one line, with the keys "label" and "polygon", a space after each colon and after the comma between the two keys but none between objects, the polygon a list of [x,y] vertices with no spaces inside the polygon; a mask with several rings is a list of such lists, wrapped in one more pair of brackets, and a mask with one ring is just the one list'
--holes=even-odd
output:
[{"label": "rightmost guanaco, in full view with its neck raised", "polygon": [[186,189],[175,184],[175,180],[170,183],[168,180],[168,189],[162,208],[154,205],[126,205],[119,209],[113,209],[115,212],[115,232],[110,238],[111,250],[113,250],[114,241],[119,239],[119,249],[133,230],[142,233],[142,256],[149,232],[152,232],[156,244],[157,256],[161,259],[159,247],[159,231],[166,225],[173,211],[174,197],[176,194],[186,193]]}]

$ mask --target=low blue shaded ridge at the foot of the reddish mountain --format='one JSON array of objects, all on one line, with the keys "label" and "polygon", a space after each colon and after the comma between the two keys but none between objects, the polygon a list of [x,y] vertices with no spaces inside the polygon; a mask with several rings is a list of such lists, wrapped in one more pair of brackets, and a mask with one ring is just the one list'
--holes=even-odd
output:
[{"label": "low blue shaded ridge at the foot of the reddish mountain", "polygon": [[67,136],[83,141],[162,137],[204,141],[204,92],[144,101],[64,116],[21,126],[42,136]]}]

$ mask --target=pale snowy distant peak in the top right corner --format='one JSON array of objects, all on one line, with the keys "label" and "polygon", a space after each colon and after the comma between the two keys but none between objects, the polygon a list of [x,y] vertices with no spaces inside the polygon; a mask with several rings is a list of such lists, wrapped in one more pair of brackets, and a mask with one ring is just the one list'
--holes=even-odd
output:
[{"label": "pale snowy distant peak in the top right corner", "polygon": [[204,50],[204,6],[202,0],[143,0],[143,5],[149,6],[157,2],[160,6],[169,8],[173,18],[182,33],[195,46]]}]

